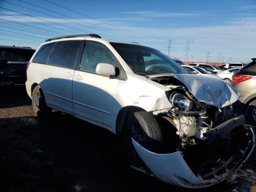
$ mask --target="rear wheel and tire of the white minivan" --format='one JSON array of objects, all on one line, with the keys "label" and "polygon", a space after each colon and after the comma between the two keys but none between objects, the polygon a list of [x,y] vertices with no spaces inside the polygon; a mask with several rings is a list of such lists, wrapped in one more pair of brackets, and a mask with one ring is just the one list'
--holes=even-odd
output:
[{"label": "rear wheel and tire of the white minivan", "polygon": [[38,116],[48,115],[52,112],[52,109],[46,105],[43,91],[39,85],[32,92],[32,106]]}]

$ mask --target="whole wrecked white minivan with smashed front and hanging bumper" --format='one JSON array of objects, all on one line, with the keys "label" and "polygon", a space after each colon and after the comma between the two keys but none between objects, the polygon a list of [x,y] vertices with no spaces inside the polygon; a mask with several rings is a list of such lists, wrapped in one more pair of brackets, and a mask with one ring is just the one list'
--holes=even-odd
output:
[{"label": "whole wrecked white minivan with smashed front and hanging bumper", "polygon": [[188,74],[138,43],[95,34],[52,38],[32,56],[27,78],[38,116],[56,109],[123,134],[131,167],[169,184],[217,184],[254,148],[252,128],[233,116],[239,93],[232,86]]}]

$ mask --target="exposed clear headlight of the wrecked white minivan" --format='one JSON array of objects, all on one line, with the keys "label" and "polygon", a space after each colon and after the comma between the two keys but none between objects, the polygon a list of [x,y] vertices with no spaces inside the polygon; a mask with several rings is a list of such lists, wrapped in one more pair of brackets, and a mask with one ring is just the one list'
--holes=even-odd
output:
[{"label": "exposed clear headlight of the wrecked white minivan", "polygon": [[192,101],[190,101],[186,96],[179,93],[174,94],[170,101],[174,106],[187,110],[191,110],[193,106]]}]

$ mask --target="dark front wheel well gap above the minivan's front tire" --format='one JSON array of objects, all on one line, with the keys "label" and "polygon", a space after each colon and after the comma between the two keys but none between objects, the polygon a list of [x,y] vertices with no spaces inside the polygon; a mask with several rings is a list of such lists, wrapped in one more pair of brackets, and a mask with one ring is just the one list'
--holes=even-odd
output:
[{"label": "dark front wheel well gap above the minivan's front tire", "polygon": [[123,107],[117,115],[116,118],[116,134],[122,134],[124,132],[124,124],[128,118],[128,114],[137,111],[145,111],[143,108],[137,106],[125,106]]}]

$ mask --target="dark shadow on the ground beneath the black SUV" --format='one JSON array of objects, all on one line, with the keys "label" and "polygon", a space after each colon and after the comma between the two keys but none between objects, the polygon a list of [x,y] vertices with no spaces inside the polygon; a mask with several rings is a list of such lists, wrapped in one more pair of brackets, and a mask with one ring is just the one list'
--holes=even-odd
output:
[{"label": "dark shadow on the ground beneath the black SUV", "polygon": [[25,85],[0,86],[0,108],[31,105]]}]

